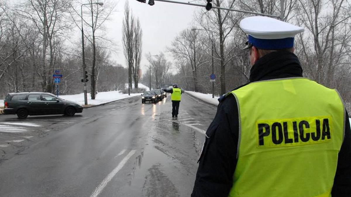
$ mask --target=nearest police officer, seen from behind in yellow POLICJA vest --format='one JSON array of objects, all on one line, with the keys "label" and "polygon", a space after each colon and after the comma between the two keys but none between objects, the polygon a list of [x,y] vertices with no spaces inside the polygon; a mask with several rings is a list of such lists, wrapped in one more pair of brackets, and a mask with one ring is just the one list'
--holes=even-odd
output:
[{"label": "nearest police officer, seen from behind in yellow POLICJA vest", "polygon": [[192,197],[350,197],[351,129],[338,92],[302,75],[304,29],[247,17],[250,82],[219,98]]}]

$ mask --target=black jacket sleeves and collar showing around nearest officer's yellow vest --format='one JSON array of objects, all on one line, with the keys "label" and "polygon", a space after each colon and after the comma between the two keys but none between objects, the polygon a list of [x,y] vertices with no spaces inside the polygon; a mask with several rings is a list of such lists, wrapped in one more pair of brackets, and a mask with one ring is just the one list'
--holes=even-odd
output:
[{"label": "black jacket sleeves and collar showing around nearest officer's yellow vest", "polygon": [[[278,51],[260,58],[252,66],[250,82],[286,77],[302,77],[302,68],[296,55]],[[216,116],[206,131],[192,197],[227,197],[233,186],[239,133],[238,107],[232,94],[218,100]],[[332,197],[351,197],[351,129],[347,112],[345,121],[345,139],[339,152]]]}]

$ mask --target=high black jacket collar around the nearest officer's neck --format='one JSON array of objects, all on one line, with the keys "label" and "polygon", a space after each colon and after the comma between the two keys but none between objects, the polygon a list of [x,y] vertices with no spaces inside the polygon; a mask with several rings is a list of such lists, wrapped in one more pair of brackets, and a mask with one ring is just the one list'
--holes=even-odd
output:
[{"label": "high black jacket collar around the nearest officer's neck", "polygon": [[276,51],[259,58],[250,71],[250,82],[286,77],[302,77],[300,61],[289,51]]}]

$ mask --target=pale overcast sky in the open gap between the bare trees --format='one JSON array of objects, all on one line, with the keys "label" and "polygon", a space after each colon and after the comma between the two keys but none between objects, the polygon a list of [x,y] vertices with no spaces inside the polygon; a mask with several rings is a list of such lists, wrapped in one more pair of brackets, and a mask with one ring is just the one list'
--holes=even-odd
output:
[{"label": "pale overcast sky in the open gap between the bare trees", "polygon": [[[139,18],[143,29],[143,53],[141,60],[143,73],[146,69],[144,65],[149,65],[145,54],[150,52],[151,55],[156,55],[161,51],[165,52],[166,47],[171,46],[172,41],[180,31],[193,23],[195,10],[205,9],[203,7],[160,1],[155,1],[155,5],[149,6],[147,3],[140,3],[137,0],[119,0],[117,12],[113,15],[112,21],[108,23],[107,35],[113,38],[117,44],[117,55],[114,55],[113,59],[125,67],[126,61],[122,46],[122,21],[124,19],[124,5],[126,1],[129,1],[129,6],[135,18]],[[177,1],[188,2],[186,0]],[[205,2],[194,1],[193,3],[200,4]],[[168,54],[167,58],[169,61],[172,60],[170,54]]]}]

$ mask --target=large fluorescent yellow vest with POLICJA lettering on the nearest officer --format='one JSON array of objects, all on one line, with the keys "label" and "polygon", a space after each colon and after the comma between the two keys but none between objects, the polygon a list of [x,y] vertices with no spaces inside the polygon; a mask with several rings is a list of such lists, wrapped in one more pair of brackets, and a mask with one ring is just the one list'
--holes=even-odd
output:
[{"label": "large fluorescent yellow vest with POLICJA lettering on the nearest officer", "polygon": [[239,142],[229,196],[330,197],[344,138],[338,92],[298,77],[230,93],[238,103]]}]

